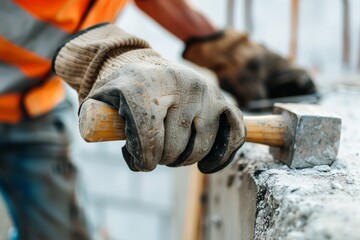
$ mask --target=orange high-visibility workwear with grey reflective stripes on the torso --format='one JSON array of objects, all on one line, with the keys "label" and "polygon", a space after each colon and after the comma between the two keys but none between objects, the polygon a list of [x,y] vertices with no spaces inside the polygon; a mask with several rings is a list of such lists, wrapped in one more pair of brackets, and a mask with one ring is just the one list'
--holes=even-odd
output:
[{"label": "orange high-visibility workwear with grey reflective stripes on the torso", "polygon": [[0,5],[0,122],[49,112],[65,97],[51,74],[57,47],[78,30],[114,21],[127,0],[3,0]]}]

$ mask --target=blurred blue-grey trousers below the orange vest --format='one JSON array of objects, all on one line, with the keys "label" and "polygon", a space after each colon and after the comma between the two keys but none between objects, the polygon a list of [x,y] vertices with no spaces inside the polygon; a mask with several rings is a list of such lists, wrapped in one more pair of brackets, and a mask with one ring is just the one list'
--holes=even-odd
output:
[{"label": "blurred blue-grey trousers below the orange vest", "polygon": [[17,125],[0,123],[0,190],[16,239],[89,239],[70,160],[75,124],[69,101]]}]

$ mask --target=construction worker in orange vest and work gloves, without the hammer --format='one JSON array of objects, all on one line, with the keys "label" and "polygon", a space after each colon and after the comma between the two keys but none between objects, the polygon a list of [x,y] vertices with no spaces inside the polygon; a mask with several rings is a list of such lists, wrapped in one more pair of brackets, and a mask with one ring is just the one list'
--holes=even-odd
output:
[{"label": "construction worker in orange vest and work gloves, without the hammer", "polygon": [[[240,106],[316,91],[304,70],[246,34],[221,31],[186,0],[135,2],[183,40],[184,58],[213,70]],[[228,165],[244,142],[242,114],[216,86],[163,59],[145,40],[99,24],[114,21],[125,4],[2,2],[0,187],[17,229],[14,238],[92,238],[68,151],[76,121],[58,76],[77,90],[80,104],[97,99],[126,118],[123,153],[131,170],[198,163],[200,171],[212,173]],[[58,76],[51,72],[54,54]]]}]

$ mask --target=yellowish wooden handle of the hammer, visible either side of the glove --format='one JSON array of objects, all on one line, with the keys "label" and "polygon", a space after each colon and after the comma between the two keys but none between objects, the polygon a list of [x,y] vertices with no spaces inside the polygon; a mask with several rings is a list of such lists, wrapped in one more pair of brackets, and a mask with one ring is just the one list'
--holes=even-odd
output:
[{"label": "yellowish wooden handle of the hammer, visible either side of the glove", "polygon": [[[89,99],[80,109],[80,134],[87,142],[125,140],[125,119],[110,105]],[[246,141],[273,147],[285,145],[287,122],[281,115],[244,117]]]}]

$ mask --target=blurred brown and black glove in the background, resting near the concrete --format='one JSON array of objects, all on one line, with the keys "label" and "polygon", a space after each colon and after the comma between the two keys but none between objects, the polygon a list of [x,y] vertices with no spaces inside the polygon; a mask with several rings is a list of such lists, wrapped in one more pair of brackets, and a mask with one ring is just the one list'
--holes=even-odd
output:
[{"label": "blurred brown and black glove in the background, resting near the concrete", "polygon": [[305,70],[233,30],[189,39],[183,57],[213,70],[220,87],[242,107],[251,100],[316,92]]}]

